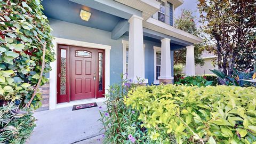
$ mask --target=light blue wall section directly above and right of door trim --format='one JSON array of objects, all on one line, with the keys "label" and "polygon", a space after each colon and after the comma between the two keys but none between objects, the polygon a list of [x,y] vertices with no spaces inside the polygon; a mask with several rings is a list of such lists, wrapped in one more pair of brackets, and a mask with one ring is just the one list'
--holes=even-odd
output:
[{"label": "light blue wall section directly above and right of door trim", "polygon": [[110,45],[110,84],[121,81],[120,75],[123,73],[122,37],[113,40],[111,39],[111,33],[108,31],[55,19],[49,19],[49,21],[50,26],[53,29],[52,35],[54,37]]}]

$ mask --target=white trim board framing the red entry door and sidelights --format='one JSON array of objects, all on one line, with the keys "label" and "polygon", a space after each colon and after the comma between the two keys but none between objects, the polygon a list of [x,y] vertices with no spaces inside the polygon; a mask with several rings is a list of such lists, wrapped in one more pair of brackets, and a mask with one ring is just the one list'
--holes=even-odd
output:
[{"label": "white trim board framing the red entry door and sidelights", "polygon": [[102,49],[105,50],[105,93],[107,93],[110,85],[110,50],[111,46],[95,44],[95,43],[87,43],[82,41],[75,41],[71,39],[58,38],[52,41],[54,47],[53,50],[55,52],[54,58],[55,61],[51,62],[50,66],[52,70],[50,71],[50,93],[49,93],[49,109],[55,109],[60,107],[68,107],[70,103],[74,102],[66,102],[57,104],[57,54],[58,54],[58,44],[66,44],[66,45],[74,45],[74,46],[82,46],[82,47],[90,47],[94,49]]}]

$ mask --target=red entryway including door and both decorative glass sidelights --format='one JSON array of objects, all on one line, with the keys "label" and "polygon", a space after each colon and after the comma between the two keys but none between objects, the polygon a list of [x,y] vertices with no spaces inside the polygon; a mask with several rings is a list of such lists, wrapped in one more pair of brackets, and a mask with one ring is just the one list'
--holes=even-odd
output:
[{"label": "red entryway including door and both decorative glass sidelights", "polygon": [[58,45],[57,103],[102,98],[105,50]]}]

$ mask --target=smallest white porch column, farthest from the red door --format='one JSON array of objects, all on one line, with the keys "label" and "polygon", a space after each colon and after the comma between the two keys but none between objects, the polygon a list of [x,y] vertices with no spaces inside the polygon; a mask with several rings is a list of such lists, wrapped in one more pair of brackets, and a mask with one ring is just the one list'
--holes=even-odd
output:
[{"label": "smallest white porch column, farthest from the red door", "polygon": [[195,73],[195,56],[194,56],[194,45],[189,45],[186,54],[186,76],[194,76]]}]

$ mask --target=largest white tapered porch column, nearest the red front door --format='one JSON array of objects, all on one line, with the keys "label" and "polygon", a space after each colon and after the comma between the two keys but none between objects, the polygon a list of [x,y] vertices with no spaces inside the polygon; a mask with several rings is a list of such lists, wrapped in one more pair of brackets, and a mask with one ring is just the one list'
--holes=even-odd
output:
[{"label": "largest white tapered porch column, nearest the red front door", "polygon": [[[137,83],[137,77],[145,79],[142,20],[143,18],[137,15],[132,15],[129,19],[128,78],[134,83]],[[143,83],[148,83],[148,79]]]}]

